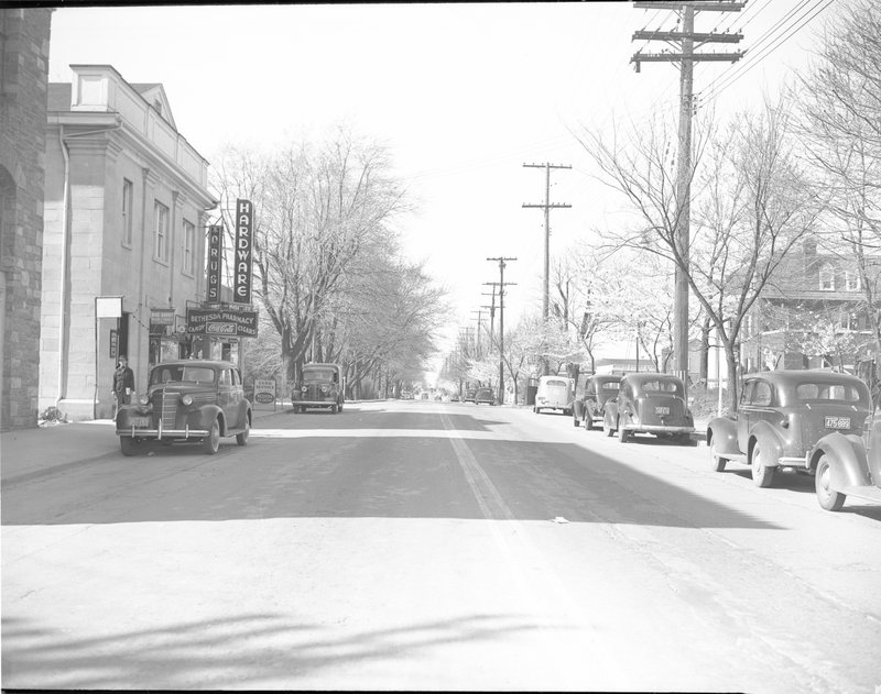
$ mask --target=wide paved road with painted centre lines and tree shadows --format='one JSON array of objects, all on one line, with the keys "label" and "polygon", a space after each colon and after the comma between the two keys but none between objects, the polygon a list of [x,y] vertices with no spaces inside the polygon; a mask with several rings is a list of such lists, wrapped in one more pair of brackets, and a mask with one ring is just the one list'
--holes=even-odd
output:
[{"label": "wide paved road with painted centre lines and tree shadows", "polygon": [[272,415],[215,456],[65,429],[4,444],[7,687],[881,684],[881,508],[808,477],[464,404]]}]

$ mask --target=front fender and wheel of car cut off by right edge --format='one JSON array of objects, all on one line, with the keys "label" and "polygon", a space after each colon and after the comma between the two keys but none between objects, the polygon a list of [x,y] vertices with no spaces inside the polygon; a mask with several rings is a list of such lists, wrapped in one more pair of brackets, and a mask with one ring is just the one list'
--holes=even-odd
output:
[{"label": "front fender and wheel of car cut off by right edge", "polygon": [[817,500],[826,510],[841,510],[848,496],[881,504],[881,420],[867,433],[833,431],[808,454]]}]

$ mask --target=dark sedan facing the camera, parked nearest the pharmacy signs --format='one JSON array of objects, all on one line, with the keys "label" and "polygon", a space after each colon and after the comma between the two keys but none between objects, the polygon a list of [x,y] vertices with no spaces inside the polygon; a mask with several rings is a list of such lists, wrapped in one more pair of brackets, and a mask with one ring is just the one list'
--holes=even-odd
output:
[{"label": "dark sedan facing the camera, parked nearest the pharmacy signs", "polygon": [[138,403],[119,408],[116,423],[123,455],[134,455],[150,440],[202,443],[214,454],[221,437],[248,443],[251,404],[239,370],[229,362],[163,362],[150,370],[146,393]]}]

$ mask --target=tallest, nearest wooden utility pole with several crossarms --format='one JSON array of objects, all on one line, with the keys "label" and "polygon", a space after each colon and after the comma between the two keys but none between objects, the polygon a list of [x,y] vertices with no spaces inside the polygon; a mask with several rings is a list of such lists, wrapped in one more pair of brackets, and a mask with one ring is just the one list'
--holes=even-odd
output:
[{"label": "tallest, nearest wooden utility pole with several crossarms", "polygon": [[739,43],[742,34],[695,32],[696,12],[739,12],[746,0],[692,0],[682,2],[634,2],[641,10],[673,10],[679,18],[681,31],[638,31],[633,41],[664,41],[678,47],[678,53],[642,53],[630,58],[635,70],[642,63],[678,63],[679,66],[679,132],[676,172],[676,235],[674,257],[677,258],[673,294],[673,373],[688,388],[688,258],[690,246],[692,197],[692,115],[694,113],[694,64],[701,60],[737,63],[744,51],[737,53],[695,53],[705,43]]}]

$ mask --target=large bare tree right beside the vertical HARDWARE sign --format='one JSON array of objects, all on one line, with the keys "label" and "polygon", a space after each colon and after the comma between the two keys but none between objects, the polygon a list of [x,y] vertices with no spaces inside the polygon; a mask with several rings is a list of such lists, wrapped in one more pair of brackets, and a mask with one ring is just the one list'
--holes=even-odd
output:
[{"label": "large bare tree right beside the vertical HARDWARE sign", "polygon": [[226,209],[235,198],[254,205],[255,295],[295,381],[307,356],[335,352],[327,331],[335,296],[362,249],[389,235],[404,209],[389,154],[339,130],[317,146],[272,156],[231,148],[217,168]]}]

